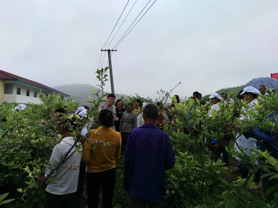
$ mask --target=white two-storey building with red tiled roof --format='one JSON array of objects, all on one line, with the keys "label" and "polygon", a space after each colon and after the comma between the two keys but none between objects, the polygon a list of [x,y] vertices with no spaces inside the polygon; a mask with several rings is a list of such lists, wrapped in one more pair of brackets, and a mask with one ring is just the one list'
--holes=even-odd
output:
[{"label": "white two-storey building with red tiled roof", "polygon": [[62,99],[70,96],[41,83],[0,70],[0,103],[6,101],[8,103],[18,102],[27,104],[31,102],[40,104],[41,100],[38,98],[41,95],[40,91],[44,95],[55,92],[60,94]]}]

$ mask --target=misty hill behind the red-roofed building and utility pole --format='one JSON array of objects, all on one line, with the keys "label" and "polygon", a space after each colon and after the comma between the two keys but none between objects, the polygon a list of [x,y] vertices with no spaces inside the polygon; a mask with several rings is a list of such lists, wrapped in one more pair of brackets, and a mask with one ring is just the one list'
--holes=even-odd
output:
[{"label": "misty hill behind the red-roofed building and utility pole", "polygon": [[[81,105],[88,105],[89,107],[91,106],[91,103],[87,103],[89,101],[88,95],[92,96],[93,94],[93,85],[90,84],[79,84],[79,83],[74,83],[74,84],[67,84],[67,85],[62,85],[59,87],[53,87],[56,90],[59,90],[61,92],[67,93],[71,95],[73,100],[77,101]],[[99,88],[96,88],[96,91]],[[103,94],[107,92],[103,91]],[[125,96],[123,94],[115,94],[116,100],[120,99],[121,96]],[[95,96],[93,96],[95,98]],[[67,99],[67,98],[65,98]]]}]

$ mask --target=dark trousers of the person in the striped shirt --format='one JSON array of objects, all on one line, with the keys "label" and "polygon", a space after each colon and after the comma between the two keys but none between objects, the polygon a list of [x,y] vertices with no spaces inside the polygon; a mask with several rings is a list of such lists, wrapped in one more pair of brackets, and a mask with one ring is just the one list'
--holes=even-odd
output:
[{"label": "dark trousers of the person in the striped shirt", "polygon": [[51,194],[46,192],[46,208],[68,208],[73,207],[75,192],[71,194]]}]

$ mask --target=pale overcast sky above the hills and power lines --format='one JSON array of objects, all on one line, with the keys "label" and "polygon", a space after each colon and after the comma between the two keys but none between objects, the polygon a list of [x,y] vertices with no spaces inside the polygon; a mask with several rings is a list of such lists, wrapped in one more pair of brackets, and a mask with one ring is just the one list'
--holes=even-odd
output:
[{"label": "pale overcast sky above the hills and power lines", "polygon": [[[135,1],[1,0],[0,69],[49,87],[95,85],[100,50],[126,3],[104,49],[148,2],[130,11]],[[243,85],[278,72],[278,1],[157,0],[116,49],[116,93],[156,98],[181,82],[172,95],[189,97]],[[103,68],[107,62],[106,52]]]}]

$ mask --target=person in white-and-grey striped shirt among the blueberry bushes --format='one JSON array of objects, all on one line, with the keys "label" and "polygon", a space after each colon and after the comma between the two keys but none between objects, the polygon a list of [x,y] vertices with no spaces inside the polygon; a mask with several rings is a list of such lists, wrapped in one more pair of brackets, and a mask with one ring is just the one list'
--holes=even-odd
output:
[{"label": "person in white-and-grey striped shirt among the blueberry bushes", "polygon": [[[52,181],[46,187],[46,207],[48,208],[72,207],[77,189],[81,154],[75,152],[75,138],[70,135],[70,126],[78,127],[78,125],[75,119],[66,121],[68,125],[63,122],[58,127],[59,134],[63,135],[62,140],[54,146],[49,164],[44,171],[45,174],[43,175],[42,172],[38,177],[38,179],[47,177],[56,166],[62,163],[49,176]],[[67,160],[64,161],[65,159]]]}]

